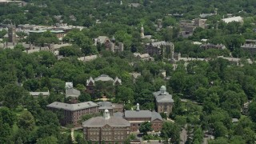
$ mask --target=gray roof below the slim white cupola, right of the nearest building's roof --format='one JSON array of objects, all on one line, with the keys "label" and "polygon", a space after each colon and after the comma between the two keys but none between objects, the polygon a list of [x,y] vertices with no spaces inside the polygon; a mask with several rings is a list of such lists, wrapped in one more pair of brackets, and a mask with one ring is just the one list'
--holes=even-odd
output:
[{"label": "gray roof below the slim white cupola, right of the nearest building's roof", "polygon": [[155,111],[150,110],[126,110],[125,111],[125,118],[151,118],[151,121],[155,119],[162,120],[160,114]]}]

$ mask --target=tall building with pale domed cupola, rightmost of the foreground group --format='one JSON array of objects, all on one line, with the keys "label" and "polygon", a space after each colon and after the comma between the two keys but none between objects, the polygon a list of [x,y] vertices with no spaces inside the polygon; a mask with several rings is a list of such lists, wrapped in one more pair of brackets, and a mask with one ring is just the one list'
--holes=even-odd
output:
[{"label": "tall building with pale domed cupola, rightmost of the foreground group", "polygon": [[161,86],[160,90],[153,94],[158,113],[165,113],[169,116],[169,114],[172,113],[174,99],[171,94],[166,92],[166,86]]}]

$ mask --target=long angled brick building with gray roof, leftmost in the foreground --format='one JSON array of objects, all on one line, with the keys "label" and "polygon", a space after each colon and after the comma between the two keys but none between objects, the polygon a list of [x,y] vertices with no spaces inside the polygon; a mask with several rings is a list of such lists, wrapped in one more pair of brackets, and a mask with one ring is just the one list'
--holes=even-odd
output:
[{"label": "long angled brick building with gray roof, leftmost in the foreground", "polygon": [[82,115],[98,114],[98,104],[94,102],[82,102],[76,104],[53,102],[47,107],[53,112],[59,112],[63,114],[63,118],[61,119],[62,126],[66,126],[66,124],[80,126],[79,120]]}]

